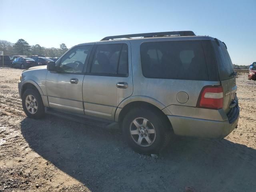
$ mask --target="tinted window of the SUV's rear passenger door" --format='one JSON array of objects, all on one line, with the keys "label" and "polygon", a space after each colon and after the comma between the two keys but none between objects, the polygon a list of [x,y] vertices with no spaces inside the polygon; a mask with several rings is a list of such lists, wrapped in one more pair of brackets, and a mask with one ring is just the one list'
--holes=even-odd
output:
[{"label": "tinted window of the SUV's rear passenger door", "polygon": [[91,73],[128,75],[127,44],[98,45],[92,60]]}]

